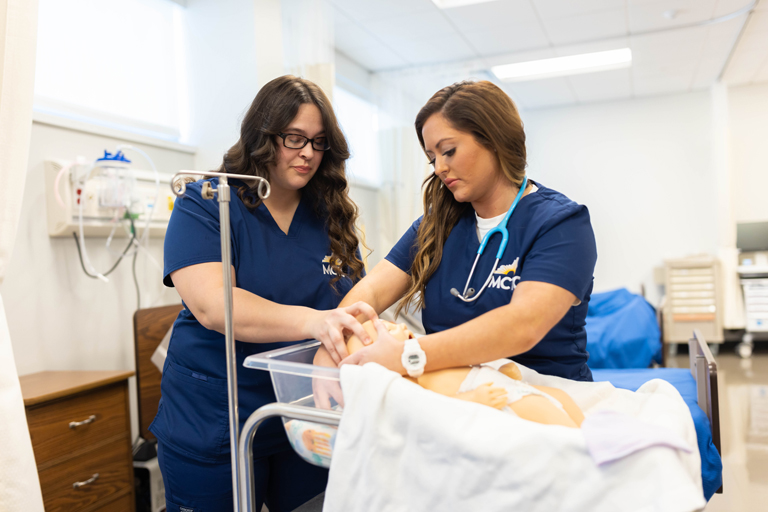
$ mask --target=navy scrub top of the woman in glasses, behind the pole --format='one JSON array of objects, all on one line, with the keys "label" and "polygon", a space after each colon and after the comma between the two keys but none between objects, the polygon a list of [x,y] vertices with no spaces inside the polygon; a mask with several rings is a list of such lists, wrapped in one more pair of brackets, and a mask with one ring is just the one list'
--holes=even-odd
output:
[{"label": "navy scrub top of the woman in glasses, behind the pole", "polygon": [[[209,180],[215,187],[218,179]],[[234,185],[235,183],[233,183]],[[187,185],[176,199],[165,236],[163,282],[170,274],[199,263],[221,262],[219,205],[200,195],[202,182]],[[319,310],[338,307],[352,288],[349,278],[330,286],[330,241],[325,220],[302,199],[286,235],[262,203],[249,210],[232,188],[232,265],[238,288],[267,300]],[[295,342],[236,342],[240,428],[262,405],[276,402],[269,372],[244,368],[251,354]],[[203,327],[186,307],[173,326],[163,369],[162,398],[150,430],[160,442],[197,460],[229,460],[229,415],[224,335]],[[254,449],[267,449],[285,440],[280,420],[259,428]]]}]

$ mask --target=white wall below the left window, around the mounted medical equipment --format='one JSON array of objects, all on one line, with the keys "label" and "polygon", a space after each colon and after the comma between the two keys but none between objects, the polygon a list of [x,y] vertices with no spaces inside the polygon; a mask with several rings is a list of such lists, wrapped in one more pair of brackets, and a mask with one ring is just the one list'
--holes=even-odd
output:
[{"label": "white wall below the left window, around the mounted medical equipment", "polygon": [[[133,313],[136,289],[131,259],[126,258],[103,283],[87,277],[72,238],[50,238],[46,221],[43,169],[48,159],[95,159],[125,142],[45,124],[32,125],[29,168],[16,245],[0,293],[4,298],[19,375],[46,370],[134,369]],[[132,143],[149,154],[160,172],[193,165],[192,154]],[[139,168],[148,169],[136,153]],[[133,158],[132,158],[133,159]],[[8,184],[12,186],[12,184]],[[106,271],[116,257],[106,239],[87,239],[95,268]],[[124,247],[126,239],[115,239]],[[162,266],[163,241],[150,239],[150,254]],[[136,264],[142,307],[174,304],[178,294],[162,285],[162,271],[139,255]],[[133,381],[133,379],[131,379]],[[135,425],[135,398],[131,384]]]}]

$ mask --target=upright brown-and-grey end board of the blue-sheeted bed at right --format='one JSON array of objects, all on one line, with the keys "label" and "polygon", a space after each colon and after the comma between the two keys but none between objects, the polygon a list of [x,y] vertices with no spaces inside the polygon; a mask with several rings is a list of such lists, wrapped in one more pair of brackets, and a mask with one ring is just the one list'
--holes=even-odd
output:
[{"label": "upright brown-and-grey end board of the blue-sheeted bed at right", "polygon": [[709,350],[701,331],[695,329],[693,338],[688,340],[691,375],[696,380],[697,402],[707,414],[712,427],[712,442],[720,456],[720,402],[717,390],[717,362]]}]

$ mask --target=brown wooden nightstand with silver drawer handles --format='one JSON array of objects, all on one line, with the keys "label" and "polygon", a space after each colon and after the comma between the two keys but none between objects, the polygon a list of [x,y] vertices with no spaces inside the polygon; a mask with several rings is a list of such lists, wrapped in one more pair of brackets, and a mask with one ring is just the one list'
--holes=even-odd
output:
[{"label": "brown wooden nightstand with silver drawer handles", "polygon": [[19,378],[46,512],[134,511],[128,377],[40,372]]}]

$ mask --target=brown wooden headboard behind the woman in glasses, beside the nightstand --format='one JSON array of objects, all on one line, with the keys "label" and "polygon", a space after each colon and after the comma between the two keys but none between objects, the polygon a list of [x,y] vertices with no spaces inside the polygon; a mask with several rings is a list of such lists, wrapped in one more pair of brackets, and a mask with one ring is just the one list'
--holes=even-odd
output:
[{"label": "brown wooden headboard behind the woman in glasses, beside the nightstand", "polygon": [[160,402],[160,379],[162,374],[150,358],[165,333],[181,311],[181,304],[157,308],[139,309],[133,315],[133,339],[136,350],[136,390],[139,409],[139,435],[154,439],[149,424],[155,419]]}]

